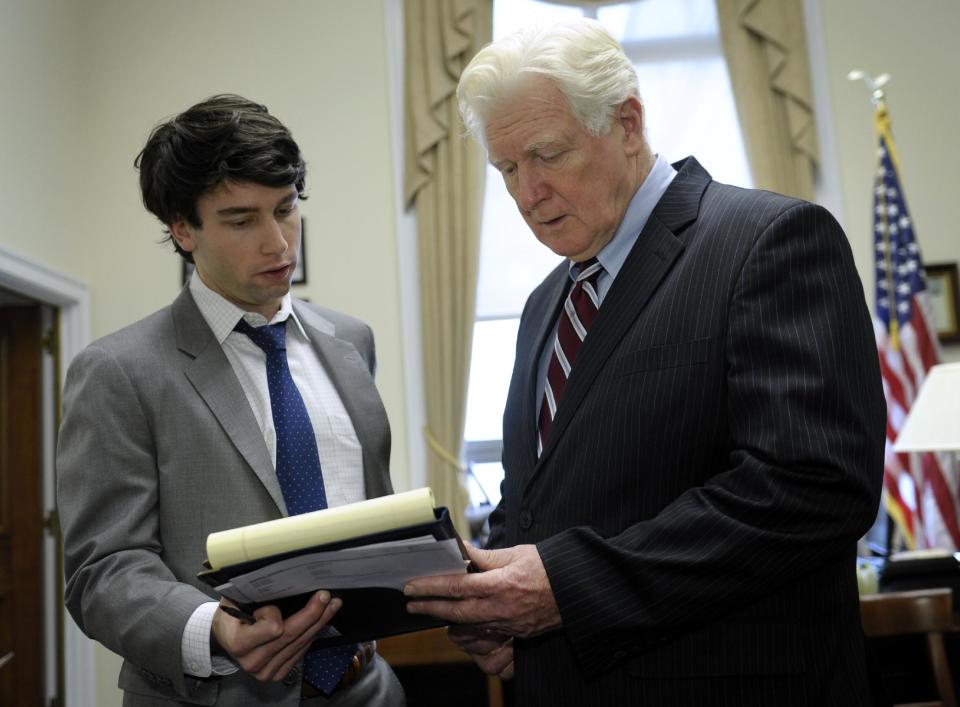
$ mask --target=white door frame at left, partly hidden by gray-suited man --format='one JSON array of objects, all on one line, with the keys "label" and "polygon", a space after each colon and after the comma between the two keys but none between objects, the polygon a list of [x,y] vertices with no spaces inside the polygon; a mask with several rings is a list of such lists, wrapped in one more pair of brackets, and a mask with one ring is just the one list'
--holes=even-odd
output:
[{"label": "white door frame at left, partly hidden by gray-suited man", "polygon": [[[42,304],[55,307],[59,312],[60,333],[60,370],[62,389],[63,378],[73,357],[90,342],[90,292],[86,285],[56,270],[0,247],[0,287],[29,297]],[[52,420],[52,396],[45,396],[45,419]],[[52,425],[46,425],[43,451],[44,497],[53,497],[54,472],[53,458],[55,439]],[[44,508],[46,513],[51,510]],[[45,582],[54,581],[48,577]],[[60,587],[47,586],[45,594],[63,596]],[[46,609],[48,610],[49,607]],[[77,628],[66,612],[64,615],[64,684],[60,694],[65,707],[92,707],[96,704],[95,648],[93,642]]]}]

